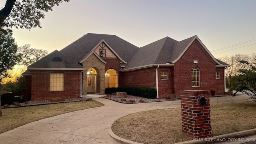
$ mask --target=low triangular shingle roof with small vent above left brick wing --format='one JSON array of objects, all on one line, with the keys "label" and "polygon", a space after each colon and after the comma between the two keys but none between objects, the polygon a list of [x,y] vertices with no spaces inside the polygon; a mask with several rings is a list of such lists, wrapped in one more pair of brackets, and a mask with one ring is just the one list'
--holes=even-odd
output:
[{"label": "low triangular shingle roof with small vent above left brick wing", "polygon": [[74,62],[58,50],[53,51],[44,58],[38,60],[34,64],[28,66],[29,69],[34,68],[83,68],[77,62]]}]

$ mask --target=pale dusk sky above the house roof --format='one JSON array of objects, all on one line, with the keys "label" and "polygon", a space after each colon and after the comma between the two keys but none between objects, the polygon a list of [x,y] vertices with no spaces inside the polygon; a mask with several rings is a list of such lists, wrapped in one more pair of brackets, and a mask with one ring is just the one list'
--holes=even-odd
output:
[{"label": "pale dusk sky above the house roof", "polygon": [[52,52],[87,33],[116,35],[138,47],[197,35],[215,58],[256,53],[256,0],[70,0],[44,14],[42,28],[13,28],[18,46]]}]

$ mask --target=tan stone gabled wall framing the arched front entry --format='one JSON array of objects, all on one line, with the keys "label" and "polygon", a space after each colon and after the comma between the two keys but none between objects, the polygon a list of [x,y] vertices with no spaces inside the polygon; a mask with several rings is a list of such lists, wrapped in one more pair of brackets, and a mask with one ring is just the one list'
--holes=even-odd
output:
[{"label": "tan stone gabled wall framing the arched front entry", "polygon": [[98,75],[98,93],[105,93],[105,64],[100,61],[97,56],[92,54],[84,62],[82,62],[85,70],[83,71],[82,95],[87,95],[87,71],[89,68],[94,68]]}]

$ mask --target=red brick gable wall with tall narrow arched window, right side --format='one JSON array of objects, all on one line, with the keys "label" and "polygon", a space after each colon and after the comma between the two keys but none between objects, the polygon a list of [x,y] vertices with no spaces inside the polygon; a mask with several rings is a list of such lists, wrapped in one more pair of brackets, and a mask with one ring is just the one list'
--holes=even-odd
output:
[{"label": "red brick gable wall with tall narrow arched window, right side", "polygon": [[[194,60],[198,60],[194,64]],[[200,86],[192,87],[191,70],[193,66],[200,69]],[[216,68],[215,63],[194,41],[182,57],[174,64],[172,92],[180,95],[180,90],[216,90],[215,94],[224,94],[224,68]],[[216,79],[216,71],[220,79]]]}]

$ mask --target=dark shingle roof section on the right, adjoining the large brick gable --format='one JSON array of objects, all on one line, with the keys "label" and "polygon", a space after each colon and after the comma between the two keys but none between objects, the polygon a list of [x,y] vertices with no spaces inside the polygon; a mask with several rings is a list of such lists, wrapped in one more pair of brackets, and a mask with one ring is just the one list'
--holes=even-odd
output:
[{"label": "dark shingle roof section on the right, adjoining the large brick gable", "polygon": [[182,54],[193,38],[194,36],[178,42],[172,38],[165,37],[143,46],[132,57],[132,60],[130,60],[124,70],[150,64],[171,63]]}]

